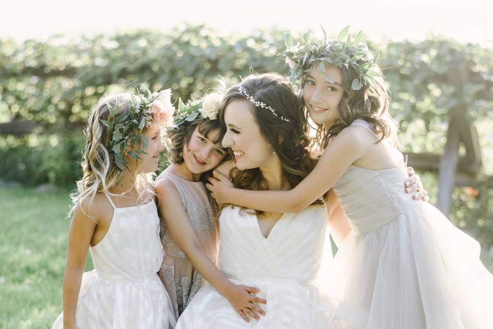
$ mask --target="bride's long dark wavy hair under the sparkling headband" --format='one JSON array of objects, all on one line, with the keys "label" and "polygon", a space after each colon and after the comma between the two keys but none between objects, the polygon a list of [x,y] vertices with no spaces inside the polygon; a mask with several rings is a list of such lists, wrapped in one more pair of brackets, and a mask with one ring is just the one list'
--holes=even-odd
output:
[{"label": "bride's long dark wavy hair under the sparkling headband", "polygon": [[[224,95],[219,108],[219,120],[223,126],[225,126],[224,112],[227,105],[235,100],[248,100],[247,96],[240,92],[240,85],[256,101],[270,105],[276,112],[277,116],[266,108],[254,106],[249,101],[251,112],[263,139],[271,145],[279,157],[282,174],[291,188],[294,188],[317,163],[317,159],[310,151],[312,143],[309,137],[310,127],[302,117],[304,104],[298,99],[296,88],[285,77],[276,73],[252,74],[245,77]],[[281,120],[281,116],[289,119],[290,122]],[[230,176],[233,177],[236,188],[257,191],[268,189],[267,181],[258,168],[247,170],[233,168]],[[317,201],[314,204],[320,203]],[[262,214],[261,211],[256,213]]]}]

